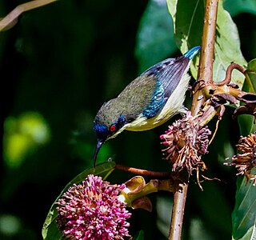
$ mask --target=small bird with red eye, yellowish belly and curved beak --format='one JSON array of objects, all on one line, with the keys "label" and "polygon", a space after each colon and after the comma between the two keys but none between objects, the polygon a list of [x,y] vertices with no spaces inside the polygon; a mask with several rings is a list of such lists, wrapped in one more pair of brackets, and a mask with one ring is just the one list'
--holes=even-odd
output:
[{"label": "small bird with red eye, yellowish belly and curved beak", "polygon": [[145,70],[138,78],[98,110],[94,131],[98,142],[94,151],[95,168],[98,152],[104,142],[123,130],[150,130],[186,113],[183,106],[190,82],[190,63],[201,46],[194,46],[178,58],[167,58]]}]

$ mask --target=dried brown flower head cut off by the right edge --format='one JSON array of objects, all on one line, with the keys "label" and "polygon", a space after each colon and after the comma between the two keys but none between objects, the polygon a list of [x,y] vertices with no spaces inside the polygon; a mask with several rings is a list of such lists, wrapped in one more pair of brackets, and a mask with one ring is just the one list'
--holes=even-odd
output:
[{"label": "dried brown flower head cut off by the right edge", "polygon": [[246,178],[254,182],[256,186],[256,175],[250,174],[253,167],[256,166],[256,132],[246,137],[240,137],[238,142],[240,154],[233,156],[233,162],[227,162],[227,166],[235,166],[238,169],[237,175],[246,175]]}]

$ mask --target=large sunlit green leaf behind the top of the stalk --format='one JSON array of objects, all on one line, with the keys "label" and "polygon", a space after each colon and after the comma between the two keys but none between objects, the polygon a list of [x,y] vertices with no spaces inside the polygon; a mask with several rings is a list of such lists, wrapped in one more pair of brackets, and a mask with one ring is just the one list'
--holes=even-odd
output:
[{"label": "large sunlit green leaf behind the top of the stalk", "polygon": [[[193,46],[201,45],[204,1],[202,0],[167,0],[170,15],[174,21],[174,40],[178,48],[185,53]],[[220,27],[221,26],[221,27]],[[222,1],[218,3],[216,41],[214,51],[214,81],[225,78],[226,68],[230,62],[246,65],[240,50],[237,26],[230,14],[223,9]],[[191,65],[191,73],[197,76],[198,58]],[[232,81],[242,87],[244,76],[238,71],[232,74]]]}]

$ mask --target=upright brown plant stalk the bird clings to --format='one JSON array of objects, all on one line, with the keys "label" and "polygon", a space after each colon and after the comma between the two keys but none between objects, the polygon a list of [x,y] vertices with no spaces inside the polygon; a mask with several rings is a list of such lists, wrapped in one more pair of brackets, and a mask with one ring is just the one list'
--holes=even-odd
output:
[{"label": "upright brown plant stalk the bird clings to", "polygon": [[[198,69],[198,80],[213,83],[214,41],[216,20],[218,13],[218,0],[206,0],[204,25],[202,30],[202,50]],[[202,104],[206,102],[201,90],[193,97],[191,106],[192,115],[198,114]],[[188,183],[182,185],[182,191],[174,192],[174,205],[171,215],[169,240],[179,240],[182,237],[182,222],[186,204]]]}]

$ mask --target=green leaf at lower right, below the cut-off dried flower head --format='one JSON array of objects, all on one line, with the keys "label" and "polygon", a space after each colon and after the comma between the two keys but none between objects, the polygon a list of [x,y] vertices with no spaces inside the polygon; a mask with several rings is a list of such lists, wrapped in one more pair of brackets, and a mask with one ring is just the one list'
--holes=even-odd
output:
[{"label": "green leaf at lower right, below the cut-off dried flower head", "polygon": [[[256,169],[252,174],[256,174]],[[232,222],[233,239],[256,238],[256,189],[245,177],[238,178]]]}]

